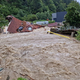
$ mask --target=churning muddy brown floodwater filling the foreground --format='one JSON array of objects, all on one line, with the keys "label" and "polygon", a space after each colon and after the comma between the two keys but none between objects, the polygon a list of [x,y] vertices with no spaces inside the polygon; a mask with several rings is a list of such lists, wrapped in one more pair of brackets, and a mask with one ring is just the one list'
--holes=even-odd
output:
[{"label": "churning muddy brown floodwater filling the foreground", "polygon": [[80,43],[44,28],[0,34],[0,68],[0,80],[80,80]]}]

